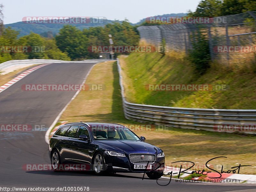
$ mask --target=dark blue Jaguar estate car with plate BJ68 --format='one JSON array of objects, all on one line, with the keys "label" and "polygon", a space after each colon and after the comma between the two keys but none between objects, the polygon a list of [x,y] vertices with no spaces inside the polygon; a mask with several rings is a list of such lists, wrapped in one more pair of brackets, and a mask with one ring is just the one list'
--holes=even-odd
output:
[{"label": "dark blue Jaguar estate car with plate BJ68", "polygon": [[145,140],[119,124],[68,123],[50,140],[52,168],[86,165],[98,175],[146,173],[150,179],[158,179],[164,172],[164,152]]}]

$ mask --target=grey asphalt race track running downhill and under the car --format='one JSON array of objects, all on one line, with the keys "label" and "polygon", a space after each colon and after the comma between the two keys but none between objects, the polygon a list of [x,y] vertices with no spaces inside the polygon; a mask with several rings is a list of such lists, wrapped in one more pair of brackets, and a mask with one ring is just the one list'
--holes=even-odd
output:
[{"label": "grey asphalt race track running downhill and under the car", "polygon": [[[1,124],[50,127],[76,91],[23,91],[23,84],[81,84],[94,63],[44,66],[0,93]],[[98,64],[100,65],[100,64]],[[86,98],[85,98],[86,99]],[[252,184],[176,183],[159,186],[142,174],[96,176],[85,172],[26,171],[25,164],[50,164],[44,131],[0,132],[0,187],[89,187],[90,191],[256,191]],[[168,179],[161,178],[161,184]]]}]

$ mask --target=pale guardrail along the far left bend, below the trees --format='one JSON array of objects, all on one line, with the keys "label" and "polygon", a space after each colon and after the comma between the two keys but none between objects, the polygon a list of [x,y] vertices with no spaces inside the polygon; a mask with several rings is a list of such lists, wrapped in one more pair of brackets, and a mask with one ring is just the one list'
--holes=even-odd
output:
[{"label": "pale guardrail along the far left bend, below the trees", "polygon": [[98,62],[105,62],[111,61],[111,59],[91,59],[91,60],[84,60],[84,61],[62,61],[62,60],[55,60],[55,59],[23,59],[23,60],[10,60],[0,64],[0,71],[16,65],[31,65],[31,64],[43,64],[43,63],[98,63]]}]

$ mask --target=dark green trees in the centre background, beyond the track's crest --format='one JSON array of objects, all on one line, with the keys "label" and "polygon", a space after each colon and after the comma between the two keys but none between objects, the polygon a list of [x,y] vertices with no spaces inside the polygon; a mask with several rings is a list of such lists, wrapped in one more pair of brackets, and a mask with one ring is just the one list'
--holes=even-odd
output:
[{"label": "dark green trees in the centre background, beyond the track's crest", "polygon": [[58,35],[56,35],[56,44],[58,48],[67,52],[72,60],[81,58],[98,58],[98,53],[92,53],[88,50],[90,46],[109,46],[109,37],[113,37],[115,46],[137,46],[140,41],[139,32],[132,26],[128,20],[122,23],[113,22],[104,27],[84,28],[82,31],[74,26],[66,25]]}]

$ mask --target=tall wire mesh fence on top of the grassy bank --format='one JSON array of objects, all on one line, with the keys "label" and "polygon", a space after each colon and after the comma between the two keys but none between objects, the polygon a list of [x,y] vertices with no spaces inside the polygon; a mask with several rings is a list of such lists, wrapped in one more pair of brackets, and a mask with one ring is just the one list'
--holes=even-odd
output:
[{"label": "tall wire mesh fence on top of the grassy bank", "polygon": [[159,46],[165,39],[169,50],[193,51],[199,32],[209,41],[212,60],[240,64],[256,59],[256,11],[210,18],[208,22],[140,26],[140,39]]}]

